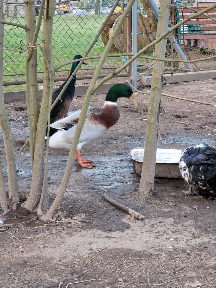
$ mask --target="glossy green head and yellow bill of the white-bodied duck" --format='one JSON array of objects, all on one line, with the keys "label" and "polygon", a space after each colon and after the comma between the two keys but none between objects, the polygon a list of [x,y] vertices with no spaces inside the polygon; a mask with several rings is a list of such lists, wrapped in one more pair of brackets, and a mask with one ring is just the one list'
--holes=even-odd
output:
[{"label": "glossy green head and yellow bill of the white-bodied duck", "polygon": [[134,104],[135,107],[138,107],[137,101],[134,98],[132,89],[125,84],[115,84],[107,93],[105,101],[115,102],[120,97],[129,98],[129,100]]}]

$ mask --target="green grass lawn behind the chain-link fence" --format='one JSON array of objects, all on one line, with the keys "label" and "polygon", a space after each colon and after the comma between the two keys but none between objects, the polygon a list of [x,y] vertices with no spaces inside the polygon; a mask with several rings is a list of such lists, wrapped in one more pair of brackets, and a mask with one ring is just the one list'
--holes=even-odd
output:
[{"label": "green grass lawn behind the chain-link fence", "polygon": [[[106,16],[69,16],[56,15],[53,20],[52,44],[54,66],[72,60],[74,55],[84,55],[86,49],[94,40]],[[25,18],[5,19],[6,21],[25,24]],[[13,26],[4,26],[4,74],[25,73],[25,53],[20,52],[20,45],[25,45],[25,31],[22,28],[12,29]],[[42,42],[42,27],[38,36],[38,43]],[[17,48],[17,49],[16,49]],[[22,46],[23,48],[23,46]],[[16,51],[10,51],[16,49]],[[95,43],[89,55],[101,55],[104,47],[101,38]],[[152,53],[151,53],[152,54]],[[83,68],[97,67],[98,59],[88,60],[88,66]],[[38,72],[43,71],[41,50],[38,49]],[[104,66],[118,67],[122,64],[122,58],[107,58]],[[62,70],[70,69],[71,64],[62,67]],[[89,74],[93,70],[80,71],[79,73]],[[106,73],[107,71],[105,71]],[[104,73],[104,72],[102,72]],[[66,72],[58,72],[58,75],[66,75]],[[39,74],[43,77],[43,74]],[[4,77],[4,81],[22,80],[25,75]]]}]

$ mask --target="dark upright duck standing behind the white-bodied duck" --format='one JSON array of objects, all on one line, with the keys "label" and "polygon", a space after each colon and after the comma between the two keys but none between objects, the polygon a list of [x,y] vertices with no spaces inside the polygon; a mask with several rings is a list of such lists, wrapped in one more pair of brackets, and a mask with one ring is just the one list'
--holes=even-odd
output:
[{"label": "dark upright duck standing behind the white-bodied duck", "polygon": [[[76,55],[76,56],[74,56],[73,60],[80,59],[80,58],[82,58],[81,55]],[[73,71],[76,69],[79,62],[80,61],[74,62],[72,64],[71,69],[70,69],[70,74],[67,77],[67,80],[70,78],[70,76],[72,75]],[[87,63],[84,61],[83,64],[87,64]],[[64,83],[57,90],[55,90],[52,93],[52,103],[55,101],[55,99],[58,97],[61,90],[64,88],[64,85],[67,83],[67,80],[65,80]],[[73,96],[75,93],[75,84],[76,84],[76,75],[74,75],[74,77],[71,79],[69,85],[64,90],[64,93],[61,95],[61,98],[58,100],[56,105],[53,107],[53,109],[50,113],[50,124],[52,124],[53,122],[67,116],[70,104],[73,100]],[[56,131],[57,131],[57,129],[50,128],[49,136],[52,136]]]}]

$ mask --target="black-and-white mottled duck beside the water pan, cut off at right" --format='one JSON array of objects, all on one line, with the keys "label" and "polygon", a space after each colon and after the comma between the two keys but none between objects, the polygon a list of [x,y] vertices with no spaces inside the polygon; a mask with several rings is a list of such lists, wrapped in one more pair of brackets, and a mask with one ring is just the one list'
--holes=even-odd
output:
[{"label": "black-and-white mottled duck beside the water pan, cut off at right", "polygon": [[[216,148],[208,144],[190,146],[182,151],[179,169],[193,191],[202,197],[216,199]],[[195,194],[196,194],[195,193]]]}]

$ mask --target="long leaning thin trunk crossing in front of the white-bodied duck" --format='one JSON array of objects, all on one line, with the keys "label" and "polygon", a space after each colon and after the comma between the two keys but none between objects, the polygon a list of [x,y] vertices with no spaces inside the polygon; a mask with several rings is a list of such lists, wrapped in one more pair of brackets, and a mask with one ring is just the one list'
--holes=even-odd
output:
[{"label": "long leaning thin trunk crossing in front of the white-bodied duck", "polygon": [[96,81],[98,79],[98,76],[100,75],[101,73],[101,69],[104,65],[104,62],[106,60],[106,57],[107,57],[107,54],[109,53],[110,51],[110,48],[119,32],[119,29],[122,25],[122,23],[124,22],[125,18],[127,17],[128,15],[128,12],[131,10],[131,7],[132,5],[134,4],[134,1],[135,0],[130,0],[129,1],[129,4],[127,5],[127,7],[125,8],[124,12],[122,13],[122,15],[120,16],[119,18],[119,21],[115,27],[115,29],[113,30],[113,33],[112,33],[112,37],[109,39],[105,49],[104,49],[104,52],[103,52],[103,55],[98,63],[98,66],[97,66],[97,69],[95,70],[95,73],[91,79],[91,83],[88,87],[88,91],[86,93],[86,96],[85,96],[85,99],[83,101],[83,104],[82,104],[82,110],[81,110],[81,113],[80,113],[80,116],[79,116],[79,121],[78,121],[78,124],[77,124],[77,127],[76,127],[76,131],[75,131],[75,134],[74,134],[74,137],[73,137],[73,140],[72,140],[72,143],[71,143],[71,148],[70,148],[70,152],[69,152],[69,155],[68,155],[68,160],[67,160],[67,166],[66,166],[66,169],[65,169],[65,172],[64,172],[64,177],[62,179],[62,182],[61,182],[61,185],[58,189],[58,193],[55,197],[55,200],[54,202],[52,203],[52,206],[49,208],[49,211],[44,215],[44,217],[42,217],[42,219],[46,220],[46,219],[51,219],[53,217],[53,215],[55,214],[55,211],[58,207],[58,204],[59,202],[61,201],[61,198],[67,188],[67,184],[69,182],[69,179],[70,179],[70,175],[71,175],[71,171],[72,171],[72,167],[73,167],[73,161],[74,161],[74,157],[75,157],[75,152],[76,152],[76,147],[77,147],[77,144],[78,144],[78,141],[79,141],[79,137],[80,137],[80,134],[81,134],[81,131],[82,131],[82,127],[84,125],[84,122],[85,122],[85,117],[86,117],[86,114],[87,114],[87,110],[88,110],[88,106],[90,104],[90,101],[91,101],[91,95],[93,94],[93,92],[95,90],[94,89],[94,86],[96,84]]}]

